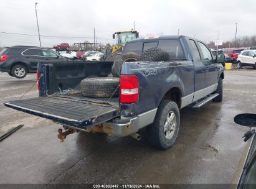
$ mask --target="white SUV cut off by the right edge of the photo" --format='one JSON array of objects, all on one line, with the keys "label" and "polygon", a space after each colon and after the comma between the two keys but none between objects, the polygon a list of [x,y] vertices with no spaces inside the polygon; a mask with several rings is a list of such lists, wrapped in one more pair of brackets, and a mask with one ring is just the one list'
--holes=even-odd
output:
[{"label": "white SUV cut off by the right edge of the photo", "polygon": [[256,50],[243,50],[237,57],[237,68],[252,66],[256,69]]}]

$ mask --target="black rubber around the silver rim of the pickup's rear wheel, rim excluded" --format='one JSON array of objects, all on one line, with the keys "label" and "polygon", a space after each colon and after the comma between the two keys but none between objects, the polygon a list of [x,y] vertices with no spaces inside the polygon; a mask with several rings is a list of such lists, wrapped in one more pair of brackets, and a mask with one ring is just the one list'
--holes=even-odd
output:
[{"label": "black rubber around the silver rim of the pickup's rear wheel, rim excluded", "polygon": [[[166,116],[170,111],[174,112],[177,124],[173,137],[171,137],[171,139],[166,139],[164,136],[164,123],[166,121]],[[163,99],[158,106],[158,111],[156,112],[153,124],[147,127],[147,139],[149,144],[158,149],[169,149],[174,144],[178,136],[179,123],[180,116],[177,104],[174,101]]]}]

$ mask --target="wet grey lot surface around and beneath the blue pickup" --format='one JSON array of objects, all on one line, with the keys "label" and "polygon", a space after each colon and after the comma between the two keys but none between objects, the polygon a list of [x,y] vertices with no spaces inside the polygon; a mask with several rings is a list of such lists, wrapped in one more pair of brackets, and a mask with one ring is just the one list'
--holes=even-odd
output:
[{"label": "wet grey lot surface around and beneath the blue pickup", "polygon": [[[64,143],[58,124],[21,113],[2,103],[19,99],[36,75],[17,80],[0,73],[0,135],[24,124],[0,143],[0,183],[230,183],[247,128],[239,113],[256,113],[256,70],[227,70],[224,101],[181,110],[178,141],[158,150],[132,137],[76,133]],[[38,95],[35,85],[24,98]]]}]

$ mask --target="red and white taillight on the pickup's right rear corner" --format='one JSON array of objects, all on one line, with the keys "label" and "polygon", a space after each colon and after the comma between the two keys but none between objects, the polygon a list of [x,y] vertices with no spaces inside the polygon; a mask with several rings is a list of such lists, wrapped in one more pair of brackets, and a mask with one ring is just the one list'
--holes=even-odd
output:
[{"label": "red and white taillight on the pickup's right rear corner", "polygon": [[139,82],[136,75],[120,76],[120,103],[136,103],[139,99]]}]

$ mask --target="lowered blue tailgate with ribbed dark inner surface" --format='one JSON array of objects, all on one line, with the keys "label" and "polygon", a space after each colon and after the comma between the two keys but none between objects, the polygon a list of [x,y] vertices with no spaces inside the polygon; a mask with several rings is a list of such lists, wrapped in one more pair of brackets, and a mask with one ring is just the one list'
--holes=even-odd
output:
[{"label": "lowered blue tailgate with ribbed dark inner surface", "polygon": [[82,129],[106,122],[119,115],[115,106],[52,97],[21,99],[6,102],[4,105]]}]

